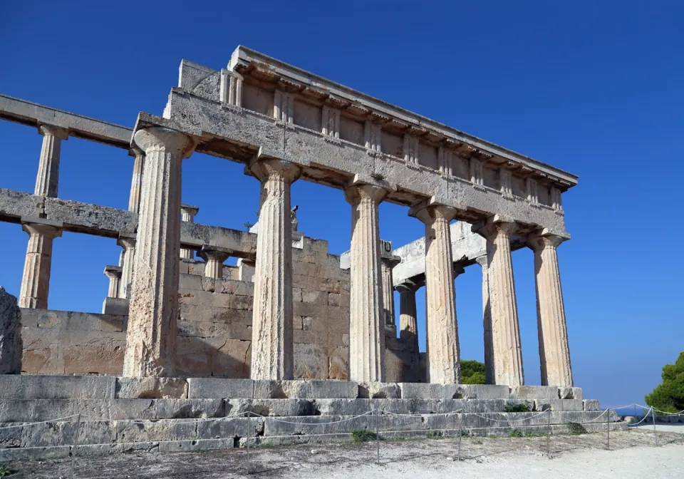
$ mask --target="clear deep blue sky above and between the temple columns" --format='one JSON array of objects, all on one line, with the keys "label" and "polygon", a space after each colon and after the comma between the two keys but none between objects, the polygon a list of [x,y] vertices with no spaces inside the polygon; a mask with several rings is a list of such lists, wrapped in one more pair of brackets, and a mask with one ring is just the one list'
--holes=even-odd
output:
[{"label": "clear deep blue sky above and between the temple columns", "polygon": [[[182,58],[219,69],[249,46],[579,175],[564,195],[573,239],[559,258],[586,397],[643,402],[684,349],[680,2],[153,3],[4,2],[0,92],[133,126],[140,110],[162,113]],[[32,192],[41,137],[2,121],[0,138],[0,187]],[[60,197],[127,207],[132,158],[77,138],[62,151]],[[254,222],[258,190],[237,163],[184,163],[183,201],[199,205],[198,222]],[[301,231],[348,249],[341,191],[300,181],[292,195]],[[383,239],[423,236],[407,212],[380,206]],[[13,294],[26,239],[0,224],[0,284]],[[103,267],[119,252],[113,239],[56,239],[51,309],[100,311]],[[539,384],[532,252],[513,262],[525,376]],[[465,359],[483,357],[480,282],[475,265],[456,284]]]}]

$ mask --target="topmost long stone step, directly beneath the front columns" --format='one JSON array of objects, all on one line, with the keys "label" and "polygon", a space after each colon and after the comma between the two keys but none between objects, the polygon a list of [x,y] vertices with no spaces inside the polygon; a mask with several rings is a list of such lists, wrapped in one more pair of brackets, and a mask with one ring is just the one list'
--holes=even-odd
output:
[{"label": "topmost long stone step, directly beneath the front columns", "polygon": [[316,398],[316,399],[583,399],[581,388],[484,384],[254,381],[234,378],[117,378],[1,375],[0,401],[20,399]]}]

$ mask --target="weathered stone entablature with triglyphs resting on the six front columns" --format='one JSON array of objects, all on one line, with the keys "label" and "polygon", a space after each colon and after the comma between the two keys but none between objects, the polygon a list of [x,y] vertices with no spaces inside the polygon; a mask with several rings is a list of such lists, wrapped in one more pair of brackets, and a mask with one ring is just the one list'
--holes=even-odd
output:
[{"label": "weathered stone entablature with triglyphs resting on the six front columns", "polygon": [[[274,62],[282,66],[282,63]],[[255,68],[252,68],[252,64],[239,67],[246,71],[239,74],[242,78],[239,83],[244,83],[244,86],[240,89],[242,98],[238,105],[229,103],[230,98],[238,101],[234,96],[222,95],[222,86],[232,84],[231,81],[221,81],[219,78],[238,73],[211,71],[184,62],[181,66],[180,89],[172,91],[165,110],[165,118],[172,121],[165,123],[158,118],[142,115],[140,126],[165,123],[171,128],[197,135],[198,151],[245,163],[257,152],[299,163],[304,167],[302,178],[326,185],[343,188],[354,179],[375,183],[389,190],[385,200],[403,205],[413,206],[417,202],[433,199],[457,208],[457,217],[461,220],[482,220],[487,215],[499,214],[524,225],[541,226],[549,231],[564,233],[560,197],[562,191],[576,184],[574,175],[496,145],[485,145],[486,142],[482,143],[477,138],[454,137],[448,141],[465,150],[450,150],[445,147],[447,138],[440,135],[460,134],[456,130],[437,123],[435,129],[431,129],[432,126],[427,125],[434,122],[431,123],[427,118],[386,103],[378,103],[363,93],[351,91],[311,73],[304,72],[308,78],[312,78],[310,83],[315,87],[306,86],[305,82],[283,80],[289,77],[276,73],[263,74],[259,68],[267,68],[269,72],[278,69],[265,65],[260,62],[259,67]],[[295,67],[287,68],[303,74]],[[292,75],[296,76],[296,73]],[[252,86],[249,85],[250,81],[254,83]],[[284,87],[283,83],[288,87]],[[299,86],[291,86],[293,84]],[[283,109],[274,106],[274,92],[281,91],[279,88],[294,88],[287,93],[289,103],[286,103],[286,110],[292,113],[285,121],[281,118]],[[315,94],[309,91],[311,88],[314,88],[311,91],[316,91]],[[353,99],[343,101],[344,95]],[[259,101],[249,100],[250,96],[259,98]],[[336,103],[338,107],[344,104],[341,131],[336,133],[339,137],[334,136],[333,140],[328,134],[328,126],[323,122],[326,116],[323,110],[330,108],[328,103],[333,101],[331,98],[340,100]],[[368,106],[371,103],[364,106],[361,113],[355,107],[366,98],[368,102],[375,102],[373,104],[382,103],[382,108],[393,108],[396,118],[403,118],[390,120],[395,117],[382,113],[382,128],[385,130],[380,128],[379,145],[373,144],[372,140],[373,135],[378,135],[377,128],[368,127],[368,122],[376,120],[376,115],[373,115],[375,110]],[[405,115],[414,118],[414,123],[410,123]],[[347,133],[345,125],[348,125]],[[379,126],[376,123],[373,125]],[[413,136],[402,133],[416,128],[423,129],[423,160],[420,142],[406,140]],[[269,140],[264,141],[266,137]]]}]

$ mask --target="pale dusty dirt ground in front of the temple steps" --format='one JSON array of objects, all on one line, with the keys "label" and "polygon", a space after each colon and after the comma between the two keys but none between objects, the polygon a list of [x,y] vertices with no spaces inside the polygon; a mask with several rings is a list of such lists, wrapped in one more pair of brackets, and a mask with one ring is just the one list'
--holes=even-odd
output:
[{"label": "pale dusty dirt ground in front of the temple steps", "polygon": [[[684,478],[684,435],[632,429],[546,438],[457,438],[301,444],[205,453],[76,458],[75,478]],[[8,478],[71,478],[71,459],[8,463]]]}]

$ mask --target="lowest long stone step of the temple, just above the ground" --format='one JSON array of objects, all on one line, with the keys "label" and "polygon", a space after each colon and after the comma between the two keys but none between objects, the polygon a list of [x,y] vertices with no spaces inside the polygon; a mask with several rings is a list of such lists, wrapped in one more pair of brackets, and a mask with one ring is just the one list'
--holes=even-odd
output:
[{"label": "lowest long stone step of the temple, just above the ground", "polygon": [[[432,414],[405,416],[378,414],[365,416],[284,416],[281,418],[207,418],[160,419],[157,421],[51,421],[33,424],[4,424],[0,427],[0,448],[41,448],[48,446],[114,443],[149,443],[160,441],[202,441],[209,439],[262,438],[281,436],[321,436],[370,430],[383,433],[405,431],[499,431],[502,428],[535,426],[544,431],[552,425],[589,423],[592,427],[618,421],[611,412],[558,411],[551,413]],[[16,426],[16,427],[7,427]],[[2,453],[0,449],[0,460]]]}]

